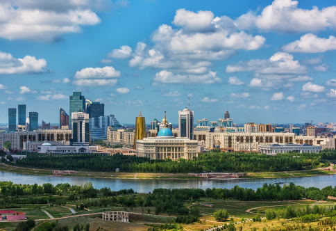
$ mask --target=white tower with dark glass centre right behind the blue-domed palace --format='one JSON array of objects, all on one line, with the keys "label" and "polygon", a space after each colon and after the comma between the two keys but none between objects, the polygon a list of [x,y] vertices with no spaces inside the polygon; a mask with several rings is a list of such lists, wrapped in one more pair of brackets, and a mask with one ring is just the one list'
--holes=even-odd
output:
[{"label": "white tower with dark glass centre right behind the blue-domed palace", "polygon": [[194,111],[183,109],[178,111],[178,136],[194,139]]}]

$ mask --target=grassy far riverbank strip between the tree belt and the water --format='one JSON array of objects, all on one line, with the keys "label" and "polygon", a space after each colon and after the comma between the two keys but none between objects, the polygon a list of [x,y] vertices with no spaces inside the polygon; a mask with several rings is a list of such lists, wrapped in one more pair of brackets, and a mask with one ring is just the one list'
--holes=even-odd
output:
[{"label": "grassy far riverbank strip between the tree belt and the water", "polygon": [[[0,171],[7,173],[19,173],[25,175],[46,175],[53,176],[52,170],[37,169],[37,168],[23,168],[17,166],[10,166],[7,164],[0,164]],[[269,179],[269,178],[289,178],[289,177],[312,177],[319,175],[335,174],[329,170],[299,170],[287,172],[265,172],[265,173],[247,173],[239,179]],[[194,177],[187,173],[101,173],[79,171],[72,174],[61,175],[58,177],[93,177],[93,178],[107,178],[107,179],[161,179],[161,180],[207,180],[203,177]],[[218,179],[216,179],[218,180]],[[226,179],[227,180],[227,179]]]}]

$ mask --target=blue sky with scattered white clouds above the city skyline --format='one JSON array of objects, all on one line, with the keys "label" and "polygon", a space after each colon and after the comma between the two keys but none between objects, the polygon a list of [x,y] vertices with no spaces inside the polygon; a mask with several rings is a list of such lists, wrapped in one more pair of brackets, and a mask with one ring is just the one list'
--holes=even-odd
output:
[{"label": "blue sky with scattered white clouds above the city skyline", "polygon": [[58,122],[81,90],[133,123],[335,122],[333,1],[4,0],[0,122],[27,104]]}]

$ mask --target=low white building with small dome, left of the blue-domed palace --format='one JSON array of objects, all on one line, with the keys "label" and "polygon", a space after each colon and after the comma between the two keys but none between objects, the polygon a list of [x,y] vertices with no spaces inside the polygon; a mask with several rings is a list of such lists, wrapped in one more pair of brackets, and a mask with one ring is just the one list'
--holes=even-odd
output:
[{"label": "low white building with small dome, left of the blue-domed palace", "polygon": [[72,146],[72,145],[51,145],[51,143],[43,143],[38,148],[38,153],[96,153],[98,146]]}]

